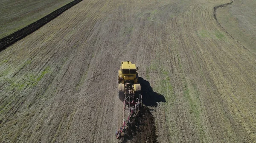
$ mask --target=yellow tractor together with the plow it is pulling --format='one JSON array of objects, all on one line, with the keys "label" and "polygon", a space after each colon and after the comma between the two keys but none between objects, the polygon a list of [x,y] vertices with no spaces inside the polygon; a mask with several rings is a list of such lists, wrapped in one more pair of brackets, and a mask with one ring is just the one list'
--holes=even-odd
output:
[{"label": "yellow tractor together with the plow it is pulling", "polygon": [[118,70],[118,97],[123,102],[123,118],[125,119],[126,105],[130,114],[128,118],[124,120],[122,126],[116,130],[116,138],[121,139],[124,137],[125,129],[130,126],[132,118],[143,107],[141,87],[138,84],[138,67],[132,64],[130,61],[121,62],[120,70]]}]

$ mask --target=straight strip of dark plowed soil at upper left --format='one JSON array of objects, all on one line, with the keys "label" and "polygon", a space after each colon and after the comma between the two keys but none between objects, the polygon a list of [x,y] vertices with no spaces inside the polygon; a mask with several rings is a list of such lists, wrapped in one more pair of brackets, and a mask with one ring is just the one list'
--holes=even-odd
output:
[{"label": "straight strip of dark plowed soil at upper left", "polygon": [[23,39],[24,37],[28,36],[29,34],[35,32],[42,26],[46,25],[48,22],[51,20],[55,19],[58,17],[60,14],[62,14],[64,11],[68,10],[72,6],[75,6],[77,3],[81,2],[82,0],[74,0],[61,8],[56,9],[55,11],[51,12],[50,14],[44,16],[43,18],[27,25],[24,28],[21,28],[20,30],[3,37],[0,39],[0,52],[2,50],[5,50],[15,42],[19,41],[20,39]]}]

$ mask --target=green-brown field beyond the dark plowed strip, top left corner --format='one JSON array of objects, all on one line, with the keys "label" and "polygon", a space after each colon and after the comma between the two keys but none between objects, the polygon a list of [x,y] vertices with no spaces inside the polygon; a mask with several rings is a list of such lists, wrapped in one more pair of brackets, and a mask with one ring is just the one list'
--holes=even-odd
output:
[{"label": "green-brown field beyond the dark plowed strip, top left corner", "polygon": [[72,0],[1,0],[0,39],[55,11]]}]

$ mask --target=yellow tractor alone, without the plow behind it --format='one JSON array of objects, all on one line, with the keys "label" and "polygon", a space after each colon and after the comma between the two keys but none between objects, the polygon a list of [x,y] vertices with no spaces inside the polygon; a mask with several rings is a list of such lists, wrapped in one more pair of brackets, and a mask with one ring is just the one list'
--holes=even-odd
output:
[{"label": "yellow tractor alone, without the plow behind it", "polygon": [[125,98],[137,98],[141,92],[140,84],[138,84],[138,67],[130,61],[121,62],[120,70],[118,70],[118,97],[121,101]]}]

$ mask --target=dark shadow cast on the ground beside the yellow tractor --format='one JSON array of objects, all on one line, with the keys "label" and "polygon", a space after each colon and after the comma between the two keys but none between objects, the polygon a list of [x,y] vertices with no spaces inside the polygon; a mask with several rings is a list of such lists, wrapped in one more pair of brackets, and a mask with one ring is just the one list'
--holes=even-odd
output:
[{"label": "dark shadow cast on the ground beside the yellow tractor", "polygon": [[145,104],[145,106],[157,107],[157,102],[166,102],[163,95],[153,91],[148,81],[139,77],[139,83],[141,86],[143,104]]}]

